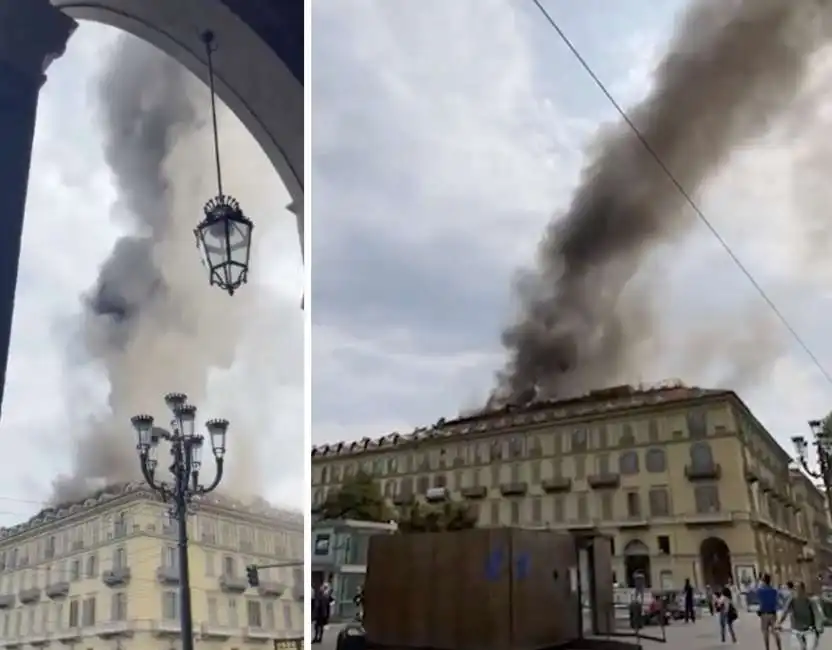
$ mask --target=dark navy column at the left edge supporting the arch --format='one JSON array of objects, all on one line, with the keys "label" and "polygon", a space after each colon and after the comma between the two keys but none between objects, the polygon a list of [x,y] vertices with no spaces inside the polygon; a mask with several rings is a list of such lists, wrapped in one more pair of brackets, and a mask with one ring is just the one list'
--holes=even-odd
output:
[{"label": "dark navy column at the left edge supporting the arch", "polygon": [[0,0],[0,414],[38,95],[76,26],[49,0]]}]

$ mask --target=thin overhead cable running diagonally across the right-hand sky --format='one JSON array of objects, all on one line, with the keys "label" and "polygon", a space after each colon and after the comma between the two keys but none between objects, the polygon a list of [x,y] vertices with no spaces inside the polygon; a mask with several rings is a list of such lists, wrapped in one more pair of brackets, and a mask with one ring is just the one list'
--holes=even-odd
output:
[{"label": "thin overhead cable running diagonally across the right-hand sky", "polygon": [[546,19],[546,22],[548,22],[552,29],[555,30],[560,40],[563,41],[563,44],[566,45],[566,47],[572,53],[572,56],[575,57],[575,59],[578,61],[581,67],[590,76],[592,81],[595,82],[595,85],[598,87],[598,89],[604,94],[604,96],[607,98],[607,100],[610,102],[613,108],[618,112],[618,114],[621,116],[621,118],[624,120],[627,126],[633,131],[633,134],[635,134],[635,136],[638,138],[639,142],[644,147],[645,151],[653,158],[653,160],[656,162],[656,164],[659,166],[659,168],[662,170],[665,176],[667,176],[668,180],[673,184],[673,186],[676,188],[679,194],[682,195],[682,198],[684,198],[687,204],[693,209],[694,213],[699,218],[699,220],[710,231],[711,235],[713,235],[717,242],[719,242],[719,245],[722,246],[723,250],[726,253],[728,253],[728,256],[734,262],[734,265],[751,283],[751,286],[754,287],[754,289],[757,291],[760,297],[768,305],[769,309],[771,309],[772,313],[786,328],[789,334],[791,334],[792,338],[797,342],[797,344],[803,349],[803,351],[806,353],[806,356],[809,357],[809,359],[812,361],[815,367],[820,371],[820,373],[826,379],[827,383],[830,386],[832,386],[832,374],[827,372],[826,368],[823,367],[823,364],[820,362],[820,359],[814,352],[812,352],[811,348],[803,339],[803,337],[801,337],[800,334],[797,333],[797,330],[792,326],[792,324],[789,322],[789,320],[786,318],[783,312],[780,311],[780,309],[777,307],[774,301],[769,297],[768,293],[766,293],[765,289],[763,289],[762,285],[757,281],[757,279],[754,277],[754,275],[751,273],[748,267],[746,267],[745,264],[742,263],[737,254],[731,249],[731,246],[728,244],[728,242],[725,241],[722,235],[719,234],[719,231],[716,229],[716,227],[705,216],[705,214],[702,212],[701,208],[696,203],[696,201],[693,200],[693,197],[688,193],[688,191],[679,182],[679,180],[673,175],[673,172],[670,171],[670,168],[661,159],[661,157],[658,155],[658,153],[647,140],[647,138],[644,136],[644,134],[639,130],[635,122],[633,122],[633,120],[627,114],[627,111],[625,111],[621,104],[615,99],[613,94],[609,91],[604,82],[601,81],[600,77],[595,73],[595,70],[593,70],[592,66],[589,65],[587,60],[583,57],[583,55],[580,53],[580,51],[574,45],[574,43],[572,43],[570,38],[566,35],[566,33],[563,31],[563,29],[557,23],[557,21],[554,18],[552,18],[551,14],[543,7],[543,5],[541,4],[541,0],[532,0],[532,2],[540,10],[540,13],[543,14],[543,17]]}]

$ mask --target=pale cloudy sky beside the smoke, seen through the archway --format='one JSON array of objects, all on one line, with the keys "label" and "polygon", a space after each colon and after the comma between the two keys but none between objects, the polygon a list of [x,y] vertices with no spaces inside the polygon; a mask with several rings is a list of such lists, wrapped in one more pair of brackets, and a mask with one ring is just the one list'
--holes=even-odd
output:
[{"label": "pale cloudy sky beside the smoke, seen through the archway", "polygon": [[[123,226],[109,218],[117,197],[104,161],[93,89],[117,37],[111,28],[83,23],[66,54],[50,67],[41,91],[0,423],[7,445],[0,461],[0,525],[38,509],[55,474],[69,471],[71,427],[106,404],[105,378],[68,363],[67,349],[80,296],[122,234]],[[209,398],[197,406],[200,420],[208,415],[231,420],[227,463],[232,468],[258,469],[266,496],[300,507],[306,457],[299,309],[303,280],[295,218],[284,210],[288,194],[257,144],[236,118],[222,117],[226,187],[257,225],[257,252],[253,284],[243,289],[250,299],[228,303],[229,309],[245,305],[248,310],[247,338],[240,342],[234,368],[212,378]],[[212,166],[206,157],[205,174],[213,173]],[[194,225],[208,198],[193,197],[188,218]],[[182,255],[199,264],[195,248]],[[93,397],[70,400],[68,386],[81,381],[91,383],[85,393]],[[164,415],[162,395],[171,389],[160,386],[159,403],[147,409]],[[113,435],[132,436],[130,423]],[[235,455],[235,435],[255,441],[252,453]]]}]

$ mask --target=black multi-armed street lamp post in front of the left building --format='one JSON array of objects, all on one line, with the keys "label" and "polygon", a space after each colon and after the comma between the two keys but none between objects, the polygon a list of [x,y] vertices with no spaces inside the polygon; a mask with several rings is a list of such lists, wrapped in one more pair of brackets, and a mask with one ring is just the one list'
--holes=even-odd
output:
[{"label": "black multi-armed street lamp post in front of the left building", "polygon": [[[136,415],[130,421],[138,436],[136,449],[139,452],[139,464],[144,480],[163,501],[171,503],[171,514],[176,519],[182,650],[193,650],[194,631],[188,573],[188,504],[195,496],[214,490],[222,480],[228,420],[209,420],[205,423],[211,450],[217,462],[217,471],[211,484],[204,487],[199,483],[199,472],[202,468],[202,445],[205,437],[194,431],[196,407],[187,401],[187,396],[182,393],[165,395],[165,404],[173,414],[170,431],[153,426],[151,415]],[[160,440],[170,443],[172,462],[168,470],[171,481],[160,481],[156,478]]]}]

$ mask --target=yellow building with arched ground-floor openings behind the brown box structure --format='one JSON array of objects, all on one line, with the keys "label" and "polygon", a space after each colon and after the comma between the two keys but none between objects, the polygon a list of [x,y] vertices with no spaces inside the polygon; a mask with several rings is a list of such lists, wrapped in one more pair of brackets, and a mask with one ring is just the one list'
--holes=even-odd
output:
[{"label": "yellow building with arched ground-floor openings behind the brown box structure", "polygon": [[362,469],[397,505],[465,500],[482,526],[600,530],[621,584],[784,581],[830,551],[823,497],[790,462],[732,391],[621,386],[314,448],[313,509]]}]

